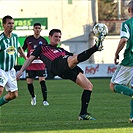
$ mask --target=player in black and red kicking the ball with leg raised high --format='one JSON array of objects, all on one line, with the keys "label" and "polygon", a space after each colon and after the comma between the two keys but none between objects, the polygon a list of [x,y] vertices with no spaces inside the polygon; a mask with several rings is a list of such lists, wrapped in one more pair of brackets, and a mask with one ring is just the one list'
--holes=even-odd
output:
[{"label": "player in black and red kicking the ball with leg raised high", "polygon": [[79,120],[95,120],[95,118],[87,113],[93,85],[84,76],[82,69],[78,67],[77,64],[89,59],[96,51],[102,50],[102,41],[100,41],[101,37],[99,37],[93,47],[77,55],[74,55],[63,48],[57,47],[61,40],[61,31],[59,29],[52,29],[49,32],[49,38],[49,45],[37,46],[35,51],[20,69],[17,74],[17,79],[19,79],[22,72],[30,65],[30,63],[39,56],[54,75],[58,75],[63,79],[70,79],[84,89],[81,97]]}]

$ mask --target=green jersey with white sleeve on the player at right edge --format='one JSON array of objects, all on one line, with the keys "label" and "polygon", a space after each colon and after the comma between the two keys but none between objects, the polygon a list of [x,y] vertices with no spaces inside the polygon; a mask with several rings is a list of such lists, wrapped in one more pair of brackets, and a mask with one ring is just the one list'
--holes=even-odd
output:
[{"label": "green jersey with white sleeve on the player at right edge", "polygon": [[127,38],[127,45],[124,51],[123,66],[133,66],[133,18],[124,21],[121,25],[121,38]]}]

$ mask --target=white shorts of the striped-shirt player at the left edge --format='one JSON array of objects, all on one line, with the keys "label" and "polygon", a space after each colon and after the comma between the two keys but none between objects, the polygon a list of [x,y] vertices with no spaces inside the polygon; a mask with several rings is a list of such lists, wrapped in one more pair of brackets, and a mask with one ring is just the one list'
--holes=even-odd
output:
[{"label": "white shorts of the striped-shirt player at the left edge", "polygon": [[0,69],[0,86],[4,87],[6,91],[14,92],[18,90],[16,71],[14,68],[10,71]]}]

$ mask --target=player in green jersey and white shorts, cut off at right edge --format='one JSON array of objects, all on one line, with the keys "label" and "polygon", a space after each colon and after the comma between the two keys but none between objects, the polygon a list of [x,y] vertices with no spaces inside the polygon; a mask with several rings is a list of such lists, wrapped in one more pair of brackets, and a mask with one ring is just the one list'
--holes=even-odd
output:
[{"label": "player in green jersey and white shorts, cut off at right edge", "polygon": [[133,89],[129,87],[133,77],[133,0],[128,4],[128,12],[131,18],[124,21],[121,25],[121,39],[115,52],[115,64],[119,63],[119,53],[126,45],[124,58],[112,76],[110,89],[113,92],[131,97],[129,122],[133,123]]}]

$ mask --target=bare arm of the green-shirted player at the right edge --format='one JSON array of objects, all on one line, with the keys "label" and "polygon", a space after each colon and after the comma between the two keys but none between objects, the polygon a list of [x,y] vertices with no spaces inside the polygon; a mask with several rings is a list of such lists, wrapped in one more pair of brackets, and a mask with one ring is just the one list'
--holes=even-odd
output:
[{"label": "bare arm of the green-shirted player at the right edge", "polygon": [[121,38],[120,41],[119,41],[119,44],[118,44],[118,47],[116,49],[116,52],[115,52],[115,58],[114,58],[114,63],[117,65],[119,62],[119,53],[120,51],[124,48],[126,42],[127,42],[127,38]]}]

